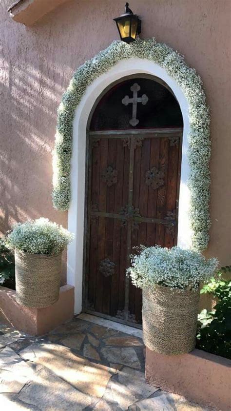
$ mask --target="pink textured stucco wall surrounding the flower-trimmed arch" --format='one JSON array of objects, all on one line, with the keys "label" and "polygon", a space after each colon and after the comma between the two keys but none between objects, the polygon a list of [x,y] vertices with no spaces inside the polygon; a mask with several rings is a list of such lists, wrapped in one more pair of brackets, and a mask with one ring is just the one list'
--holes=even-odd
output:
[{"label": "pink textured stucco wall surrounding the flower-trimmed arch", "polygon": [[[12,21],[0,4],[3,90],[0,118],[0,229],[46,216],[52,207],[56,111],[75,69],[118,37],[112,19],[124,0],[71,0],[33,27]],[[142,38],[155,36],[184,54],[201,75],[212,110],[211,241],[208,255],[230,264],[230,0],[133,0]]]}]

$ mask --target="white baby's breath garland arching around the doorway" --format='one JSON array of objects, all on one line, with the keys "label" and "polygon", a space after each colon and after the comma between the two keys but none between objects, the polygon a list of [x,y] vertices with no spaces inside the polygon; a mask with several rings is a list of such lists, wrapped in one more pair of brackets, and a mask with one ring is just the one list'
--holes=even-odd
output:
[{"label": "white baby's breath garland arching around the doorway", "polygon": [[193,229],[193,247],[202,251],[208,245],[210,227],[210,110],[206,103],[202,81],[195,69],[188,67],[178,52],[166,44],[157,43],[155,39],[138,39],[131,44],[114,41],[108,48],[77,69],[58,107],[53,158],[54,207],[59,211],[65,211],[70,206],[72,133],[77,105],[87,86],[97,77],[107,72],[120,60],[132,57],[152,60],[165,68],[181,87],[189,103],[190,219]]}]

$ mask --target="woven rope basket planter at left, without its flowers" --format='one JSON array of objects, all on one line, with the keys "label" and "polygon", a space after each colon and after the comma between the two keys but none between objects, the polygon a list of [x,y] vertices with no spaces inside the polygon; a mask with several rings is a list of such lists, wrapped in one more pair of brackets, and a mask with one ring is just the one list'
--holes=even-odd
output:
[{"label": "woven rope basket planter at left, without its flowers", "polygon": [[44,308],[58,300],[62,253],[29,254],[15,250],[16,300],[26,307]]}]

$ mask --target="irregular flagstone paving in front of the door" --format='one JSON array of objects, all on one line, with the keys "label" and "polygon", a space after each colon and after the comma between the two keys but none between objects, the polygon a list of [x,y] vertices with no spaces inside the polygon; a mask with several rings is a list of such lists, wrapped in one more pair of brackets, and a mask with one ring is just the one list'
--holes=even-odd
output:
[{"label": "irregular flagstone paving in front of the door", "polygon": [[0,326],[0,409],[207,411],[145,382],[140,338],[74,318],[31,337]]}]

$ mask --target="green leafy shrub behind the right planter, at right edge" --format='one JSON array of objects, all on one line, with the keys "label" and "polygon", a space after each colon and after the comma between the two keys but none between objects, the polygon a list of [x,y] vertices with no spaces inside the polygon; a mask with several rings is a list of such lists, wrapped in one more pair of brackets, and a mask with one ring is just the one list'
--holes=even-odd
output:
[{"label": "green leafy shrub behind the right planter, at right edge", "polygon": [[198,315],[197,348],[231,359],[231,266],[222,267],[216,277],[201,289],[212,294],[217,303],[212,311],[203,309]]}]

